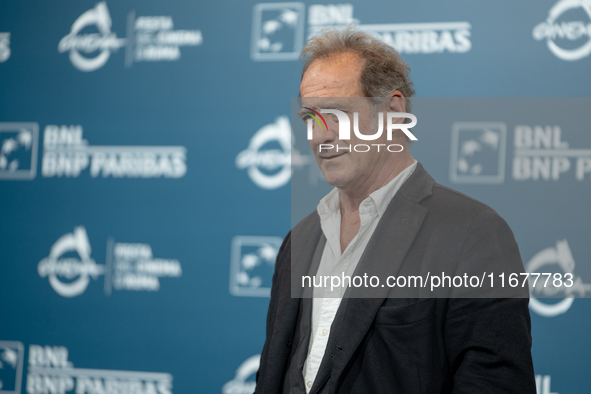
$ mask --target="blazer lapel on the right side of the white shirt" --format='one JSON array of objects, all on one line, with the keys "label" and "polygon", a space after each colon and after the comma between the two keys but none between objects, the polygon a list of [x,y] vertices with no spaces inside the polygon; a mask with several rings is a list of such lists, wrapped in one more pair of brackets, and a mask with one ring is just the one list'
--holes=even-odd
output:
[{"label": "blazer lapel on the right side of the white shirt", "polygon": [[[354,275],[367,273],[382,280],[398,273],[427,213],[419,202],[431,195],[434,183],[418,163],[415,172],[396,193],[380,219]],[[390,290],[387,286],[370,288],[370,292],[362,287],[347,289],[331,326],[326,353],[310,394],[318,392],[331,375],[338,378]]]}]

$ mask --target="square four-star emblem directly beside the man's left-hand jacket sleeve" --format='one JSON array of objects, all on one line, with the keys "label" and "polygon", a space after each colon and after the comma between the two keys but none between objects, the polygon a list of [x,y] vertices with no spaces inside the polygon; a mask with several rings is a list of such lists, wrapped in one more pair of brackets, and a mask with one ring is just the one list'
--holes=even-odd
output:
[{"label": "square four-star emblem directly beside the man's left-hand jacket sleeve", "polygon": [[234,237],[230,263],[230,294],[269,297],[275,259],[282,242],[279,237]]}]

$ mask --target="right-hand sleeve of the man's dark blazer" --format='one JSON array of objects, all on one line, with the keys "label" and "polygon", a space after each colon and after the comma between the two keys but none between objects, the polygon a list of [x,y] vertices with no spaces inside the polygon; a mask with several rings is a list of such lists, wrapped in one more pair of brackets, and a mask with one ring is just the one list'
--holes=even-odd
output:
[{"label": "right-hand sleeve of the man's dark blazer", "polygon": [[[467,234],[456,274],[523,271],[513,233],[492,209],[481,212]],[[453,393],[535,394],[529,298],[487,295],[493,297],[448,300],[444,336]]]}]

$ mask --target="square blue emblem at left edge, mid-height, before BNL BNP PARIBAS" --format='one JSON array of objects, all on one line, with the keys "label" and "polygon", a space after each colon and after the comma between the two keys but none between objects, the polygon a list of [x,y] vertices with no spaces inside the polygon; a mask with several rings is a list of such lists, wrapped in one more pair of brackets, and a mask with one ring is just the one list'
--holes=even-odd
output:
[{"label": "square blue emblem at left edge, mid-height, before BNL BNP PARIBAS", "polygon": [[37,123],[0,123],[0,180],[35,179],[38,141]]}]

